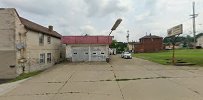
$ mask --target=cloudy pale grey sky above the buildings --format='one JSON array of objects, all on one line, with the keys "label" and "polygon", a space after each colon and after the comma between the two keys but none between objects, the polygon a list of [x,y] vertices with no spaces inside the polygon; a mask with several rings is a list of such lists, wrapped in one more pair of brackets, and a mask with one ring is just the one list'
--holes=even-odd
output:
[{"label": "cloudy pale grey sky above the buildings", "polygon": [[167,36],[183,24],[183,36],[192,35],[192,2],[196,2],[196,30],[203,32],[203,0],[0,0],[0,8],[16,8],[19,15],[43,26],[53,25],[63,36],[108,35],[120,42],[139,41],[145,35]]}]

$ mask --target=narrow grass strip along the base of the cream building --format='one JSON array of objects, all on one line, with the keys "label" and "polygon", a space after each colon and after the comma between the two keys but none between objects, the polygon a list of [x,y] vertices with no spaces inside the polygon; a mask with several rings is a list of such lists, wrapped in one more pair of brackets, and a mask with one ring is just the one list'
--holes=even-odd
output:
[{"label": "narrow grass strip along the base of the cream building", "polygon": [[9,82],[15,82],[15,81],[18,81],[18,80],[22,80],[22,79],[26,79],[26,78],[29,78],[29,77],[32,77],[32,76],[35,76],[39,73],[41,73],[42,71],[34,71],[34,72],[30,72],[30,73],[22,73],[20,74],[19,76],[17,76],[15,79],[12,79],[11,81]]}]

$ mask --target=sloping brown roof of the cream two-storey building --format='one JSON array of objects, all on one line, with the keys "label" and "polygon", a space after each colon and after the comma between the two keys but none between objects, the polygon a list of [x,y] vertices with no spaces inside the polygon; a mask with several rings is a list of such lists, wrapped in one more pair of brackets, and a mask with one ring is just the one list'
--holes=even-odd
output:
[{"label": "sloping brown roof of the cream two-storey building", "polygon": [[36,31],[36,32],[41,32],[41,33],[44,33],[44,34],[47,34],[47,35],[51,35],[53,37],[56,37],[56,38],[61,38],[61,35],[59,33],[57,33],[56,31],[51,31],[49,30],[49,28],[47,27],[44,27],[44,26],[41,26],[37,23],[34,23],[32,21],[29,21],[25,18],[22,18],[22,17],[19,17],[21,23],[25,26],[25,28],[27,29],[30,29],[32,31]]}]

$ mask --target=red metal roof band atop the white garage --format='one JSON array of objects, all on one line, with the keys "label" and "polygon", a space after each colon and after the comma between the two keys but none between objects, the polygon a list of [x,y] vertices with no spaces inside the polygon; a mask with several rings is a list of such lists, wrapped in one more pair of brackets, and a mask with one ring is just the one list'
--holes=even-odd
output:
[{"label": "red metal roof band atop the white garage", "polygon": [[113,36],[63,36],[64,44],[111,44]]}]

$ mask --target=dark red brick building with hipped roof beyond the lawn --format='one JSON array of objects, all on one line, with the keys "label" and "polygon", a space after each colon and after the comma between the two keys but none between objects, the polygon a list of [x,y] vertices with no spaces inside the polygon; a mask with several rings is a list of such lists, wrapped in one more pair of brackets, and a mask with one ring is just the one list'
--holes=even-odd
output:
[{"label": "dark red brick building with hipped roof beyond the lawn", "polygon": [[134,47],[135,52],[157,52],[163,50],[163,38],[150,34],[140,38]]}]

